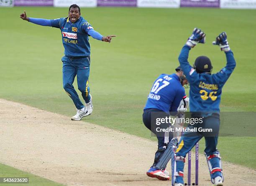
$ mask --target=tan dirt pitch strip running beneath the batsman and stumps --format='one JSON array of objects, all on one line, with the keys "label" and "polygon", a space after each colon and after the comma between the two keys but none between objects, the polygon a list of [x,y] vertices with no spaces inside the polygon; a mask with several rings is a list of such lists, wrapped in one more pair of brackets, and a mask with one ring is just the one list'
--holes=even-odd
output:
[{"label": "tan dirt pitch strip running beneath the batsman and stumps", "polygon": [[[171,185],[146,176],[156,142],[5,99],[0,108],[0,163],[68,186]],[[211,186],[203,155],[199,162],[200,186]],[[225,161],[223,169],[226,186],[256,185],[255,170]]]}]

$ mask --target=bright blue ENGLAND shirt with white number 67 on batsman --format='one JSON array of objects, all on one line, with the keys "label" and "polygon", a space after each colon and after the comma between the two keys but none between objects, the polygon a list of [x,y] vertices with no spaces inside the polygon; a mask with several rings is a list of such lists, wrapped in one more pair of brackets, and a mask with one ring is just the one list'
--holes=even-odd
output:
[{"label": "bright blue ENGLAND shirt with white number 67 on batsman", "polygon": [[185,90],[177,74],[161,74],[154,82],[144,110],[158,109],[169,114],[177,112]]}]

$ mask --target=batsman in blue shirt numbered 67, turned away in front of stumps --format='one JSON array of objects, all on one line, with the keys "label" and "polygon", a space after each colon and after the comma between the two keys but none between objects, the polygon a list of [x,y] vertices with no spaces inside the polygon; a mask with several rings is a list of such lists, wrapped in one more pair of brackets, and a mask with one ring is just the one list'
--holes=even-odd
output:
[{"label": "batsman in blue shirt numbered 67, turned away in front of stumps", "polygon": [[[171,147],[172,132],[158,133],[156,119],[170,116],[170,112],[183,112],[187,110],[189,99],[185,94],[183,85],[187,84],[180,66],[176,69],[176,74],[161,74],[154,82],[148,100],[143,110],[144,125],[156,134],[158,139],[158,150],[155,153],[154,163],[147,171],[147,175],[159,180],[169,180],[169,172],[166,165],[170,160],[169,147]],[[182,108],[179,107],[182,105]],[[176,142],[177,145],[177,142]]]}]

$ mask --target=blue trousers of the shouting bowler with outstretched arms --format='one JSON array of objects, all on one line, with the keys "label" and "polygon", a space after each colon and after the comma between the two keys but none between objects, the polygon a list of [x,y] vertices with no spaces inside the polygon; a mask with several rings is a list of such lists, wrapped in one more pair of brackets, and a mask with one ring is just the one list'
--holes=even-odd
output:
[{"label": "blue trousers of the shouting bowler with outstretched arms", "polygon": [[82,97],[86,103],[90,102],[90,87],[88,86],[88,78],[90,74],[90,56],[69,58],[62,57],[62,80],[63,88],[73,100],[77,109],[82,109],[84,104],[79,99],[79,96],[74,89],[73,82],[77,76],[77,85]]}]

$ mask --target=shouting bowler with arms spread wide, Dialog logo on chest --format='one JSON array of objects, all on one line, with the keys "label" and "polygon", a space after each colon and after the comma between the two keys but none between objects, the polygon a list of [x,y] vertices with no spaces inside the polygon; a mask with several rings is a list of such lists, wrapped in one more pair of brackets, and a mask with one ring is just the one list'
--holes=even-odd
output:
[{"label": "shouting bowler with arms spread wide, Dialog logo on chest", "polygon": [[[90,115],[93,105],[88,85],[91,63],[89,36],[110,43],[115,35],[104,37],[95,31],[92,25],[81,16],[80,8],[76,4],[69,7],[67,18],[53,20],[28,18],[25,11],[20,15],[20,18],[34,24],[51,26],[61,30],[62,43],[65,49],[64,57],[61,59],[63,62],[63,87],[77,108],[77,114],[71,120],[81,120],[82,117]],[[78,89],[82,93],[85,106],[73,87],[75,76],[77,76]]]}]

